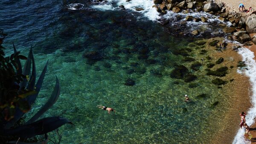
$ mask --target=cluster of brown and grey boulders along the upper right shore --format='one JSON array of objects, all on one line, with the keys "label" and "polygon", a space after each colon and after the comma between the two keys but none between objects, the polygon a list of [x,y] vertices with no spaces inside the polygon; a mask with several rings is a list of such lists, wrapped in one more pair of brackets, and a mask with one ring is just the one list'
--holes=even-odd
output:
[{"label": "cluster of brown and grey boulders along the upper right shore", "polygon": [[[205,11],[209,14],[218,15],[218,19],[222,22],[232,23],[232,27],[224,28],[225,33],[234,33],[233,37],[230,36],[230,40],[236,40],[240,43],[252,41],[256,44],[256,35],[252,38],[249,34],[256,33],[256,14],[252,14],[249,17],[242,17],[236,11],[226,11],[224,3],[214,3],[212,0],[153,0],[154,6],[158,12],[161,14],[166,14],[166,11],[173,11],[179,13],[182,10],[186,14],[188,11],[186,9],[192,9],[193,11]],[[206,17],[194,18],[192,16],[187,16],[186,21],[202,21],[207,22]],[[198,35],[199,31],[192,31],[193,35]]]}]

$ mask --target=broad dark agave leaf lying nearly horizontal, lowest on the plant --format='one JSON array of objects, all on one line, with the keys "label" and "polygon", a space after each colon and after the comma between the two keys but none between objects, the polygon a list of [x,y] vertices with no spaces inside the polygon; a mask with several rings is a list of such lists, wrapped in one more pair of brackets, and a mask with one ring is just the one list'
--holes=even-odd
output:
[{"label": "broad dark agave leaf lying nearly horizontal, lowest on the plant", "polygon": [[21,138],[31,138],[51,132],[52,130],[61,127],[64,124],[72,124],[66,118],[59,116],[47,117],[33,122],[32,124],[25,124],[14,129],[4,129],[0,132],[2,136],[18,136]]}]

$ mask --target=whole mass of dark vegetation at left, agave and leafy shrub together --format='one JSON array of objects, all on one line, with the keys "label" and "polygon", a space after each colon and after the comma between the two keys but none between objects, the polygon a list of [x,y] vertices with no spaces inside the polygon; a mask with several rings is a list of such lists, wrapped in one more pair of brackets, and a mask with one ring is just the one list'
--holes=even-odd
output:
[{"label": "whole mass of dark vegetation at left, agave and leafy shrub together", "polygon": [[[0,31],[0,141],[10,140],[26,141],[38,135],[51,132],[69,120],[54,116],[37,121],[52,105],[60,95],[60,84],[56,77],[55,88],[49,100],[41,109],[28,121],[24,121],[23,116],[30,109],[40,92],[47,71],[46,63],[38,81],[36,82],[36,67],[32,48],[28,57],[20,55],[13,44],[14,53],[6,56],[3,51],[3,43],[6,34]],[[20,59],[26,60],[23,69]],[[31,66],[32,65],[32,66]],[[31,71],[32,69],[32,71]]]}]

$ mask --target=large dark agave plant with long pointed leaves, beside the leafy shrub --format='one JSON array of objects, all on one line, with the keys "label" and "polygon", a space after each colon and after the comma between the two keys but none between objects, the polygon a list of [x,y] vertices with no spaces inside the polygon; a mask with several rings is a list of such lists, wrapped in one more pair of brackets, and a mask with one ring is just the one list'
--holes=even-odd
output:
[{"label": "large dark agave plant with long pointed leaves, beside the leafy shrub", "polygon": [[[38,96],[38,93],[40,92],[42,83],[44,81],[44,76],[47,71],[47,65],[48,61],[46,62],[44,69],[36,82],[36,67],[35,67],[35,60],[32,52],[32,48],[29,51],[29,55],[26,59],[26,63],[23,67],[23,70],[21,68],[20,58],[18,58],[15,55],[18,55],[15,48],[15,45],[13,44],[14,48],[14,54],[11,57],[13,65],[17,67],[17,71],[15,72],[16,75],[22,75],[22,79],[17,83],[14,82],[14,85],[18,85],[18,93],[21,93],[18,97],[21,99],[17,103],[16,107],[13,107],[15,113],[10,119],[2,119],[0,121],[0,135],[1,136],[16,136],[20,138],[31,138],[37,135],[47,134],[48,132],[51,132],[52,130],[57,129],[58,127],[61,127],[64,124],[70,123],[72,124],[68,119],[62,118],[60,116],[53,116],[53,117],[47,117],[44,119],[38,120],[40,116],[42,116],[52,105],[57,101],[59,95],[60,95],[60,84],[58,81],[58,78],[56,76],[56,83],[55,88],[52,91],[51,97],[48,99],[48,101],[44,104],[43,107],[34,115],[31,119],[26,121],[23,125],[15,127],[15,123],[19,121],[22,116],[27,113],[32,104],[35,103],[35,100]],[[17,57],[17,58],[16,58]],[[22,56],[21,56],[22,57]],[[32,65],[32,67],[31,67]],[[32,69],[32,72],[31,72]],[[22,92],[22,91],[26,92]],[[0,95],[1,96],[1,95]],[[3,113],[3,112],[2,112]],[[37,121],[38,120],[38,121]]]}]

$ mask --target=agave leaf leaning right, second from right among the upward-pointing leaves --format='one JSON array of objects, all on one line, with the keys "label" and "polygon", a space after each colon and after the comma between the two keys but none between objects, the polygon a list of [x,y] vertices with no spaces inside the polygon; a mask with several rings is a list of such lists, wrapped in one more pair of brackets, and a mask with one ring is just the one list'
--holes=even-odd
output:
[{"label": "agave leaf leaning right, second from right among the upward-pointing leaves", "polygon": [[47,71],[47,65],[48,65],[48,61],[46,62],[45,66],[44,66],[44,69],[43,69],[43,71],[42,71],[42,73],[41,73],[41,75],[38,79],[38,82],[35,85],[35,91],[37,91],[37,94],[27,97],[27,101],[29,102],[30,105],[35,102],[35,99],[36,99],[36,97],[38,96],[38,93],[41,90],[41,87],[42,87],[42,84],[43,84],[43,81],[44,81],[44,76],[45,76],[45,73]]}]

